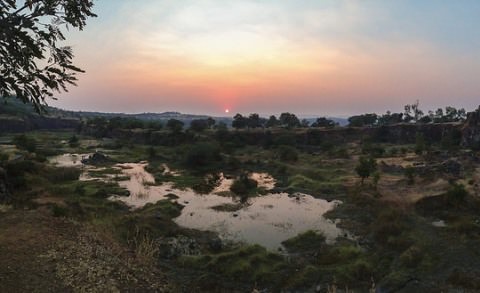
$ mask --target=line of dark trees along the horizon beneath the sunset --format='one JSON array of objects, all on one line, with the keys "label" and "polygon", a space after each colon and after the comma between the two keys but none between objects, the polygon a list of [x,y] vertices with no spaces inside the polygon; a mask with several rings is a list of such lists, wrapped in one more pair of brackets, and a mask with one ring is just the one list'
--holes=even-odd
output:
[{"label": "line of dark trees along the horizon beneath the sunset", "polygon": [[[384,126],[393,125],[399,123],[449,123],[449,122],[462,122],[466,119],[467,113],[465,109],[456,109],[451,106],[445,107],[445,109],[438,108],[436,111],[428,111],[424,114],[419,109],[418,102],[410,105],[405,105],[404,112],[392,113],[387,111],[383,115],[375,113],[367,113],[362,115],[355,115],[348,118],[349,127],[371,127],[371,126]],[[173,132],[182,131],[186,124],[175,118],[168,120],[142,120],[131,117],[95,117],[88,119],[86,126],[95,127],[97,129],[103,129],[110,131],[113,129],[153,129],[161,130],[168,129]],[[207,129],[219,129],[228,128],[229,125],[223,121],[217,122],[215,119],[201,118],[192,119],[188,127],[189,130],[195,132],[202,132]],[[248,116],[242,114],[236,114],[233,117],[231,127],[235,129],[255,129],[255,128],[333,128],[338,127],[339,124],[334,120],[327,117],[316,118],[313,122],[302,119],[300,120],[295,114],[285,112],[281,113],[277,118],[275,115],[270,116],[268,119],[260,117],[257,113],[252,113]]]}]

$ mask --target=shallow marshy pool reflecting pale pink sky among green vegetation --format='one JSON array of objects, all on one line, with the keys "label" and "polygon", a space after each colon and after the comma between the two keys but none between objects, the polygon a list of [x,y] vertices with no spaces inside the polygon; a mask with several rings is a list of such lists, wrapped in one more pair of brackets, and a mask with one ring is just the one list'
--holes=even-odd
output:
[{"label": "shallow marshy pool reflecting pale pink sky among green vegetation", "polygon": [[[82,166],[81,162],[77,163],[79,156],[70,155],[75,163],[68,163],[68,155],[50,161],[62,166]],[[336,222],[323,217],[340,201],[329,202],[303,193],[268,193],[275,180],[266,173],[252,173],[250,176],[257,180],[259,187],[267,190],[267,194],[241,203],[234,196],[224,195],[233,179],[221,175],[218,186],[211,193],[198,194],[189,188],[175,188],[170,182],[156,185],[153,175],[145,170],[147,165],[147,162],[116,164],[114,168],[119,168],[122,175],[129,178],[118,181],[118,184],[130,195],[112,195],[110,199],[122,201],[132,209],[163,199],[177,201],[184,206],[181,215],[174,219],[180,226],[214,231],[223,241],[260,244],[272,250],[281,248],[282,241],[307,230],[322,232],[328,243],[347,233],[338,228]],[[88,175],[88,170],[92,169],[85,169],[80,180],[95,179]],[[108,177],[97,179],[109,180]]]}]

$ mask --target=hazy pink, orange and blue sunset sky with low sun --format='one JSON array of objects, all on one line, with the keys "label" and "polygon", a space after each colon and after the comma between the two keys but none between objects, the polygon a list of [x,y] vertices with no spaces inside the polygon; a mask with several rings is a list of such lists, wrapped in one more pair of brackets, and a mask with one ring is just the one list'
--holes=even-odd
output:
[{"label": "hazy pink, orange and blue sunset sky with low sun", "polygon": [[86,73],[54,106],[346,117],[480,104],[477,0],[98,0],[94,12],[66,33]]}]

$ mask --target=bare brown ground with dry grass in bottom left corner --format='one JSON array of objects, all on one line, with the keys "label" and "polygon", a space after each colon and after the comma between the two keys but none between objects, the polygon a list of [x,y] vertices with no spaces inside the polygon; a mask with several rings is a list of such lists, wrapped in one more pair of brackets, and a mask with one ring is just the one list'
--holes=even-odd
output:
[{"label": "bare brown ground with dry grass in bottom left corner", "polygon": [[45,207],[0,212],[0,292],[168,291],[161,272],[105,233]]}]

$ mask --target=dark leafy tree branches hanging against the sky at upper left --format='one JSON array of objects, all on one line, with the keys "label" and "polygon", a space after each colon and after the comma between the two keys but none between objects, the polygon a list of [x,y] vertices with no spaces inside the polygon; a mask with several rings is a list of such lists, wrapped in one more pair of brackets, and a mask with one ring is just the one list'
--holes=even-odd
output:
[{"label": "dark leafy tree branches hanging against the sky at upper left", "polygon": [[[62,46],[62,27],[80,30],[93,1],[2,1],[0,4],[0,96],[32,102],[40,112],[45,99],[75,85],[71,47]],[[5,40],[5,41],[4,41]]]}]

